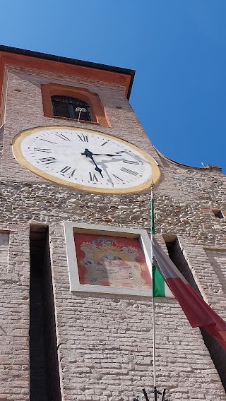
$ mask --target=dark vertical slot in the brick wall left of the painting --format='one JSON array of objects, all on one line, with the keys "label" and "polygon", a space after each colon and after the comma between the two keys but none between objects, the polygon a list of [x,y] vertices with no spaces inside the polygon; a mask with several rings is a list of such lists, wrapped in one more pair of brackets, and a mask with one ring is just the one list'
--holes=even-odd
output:
[{"label": "dark vertical slot in the brick wall left of the painting", "polygon": [[30,401],[61,401],[48,227],[30,227]]}]

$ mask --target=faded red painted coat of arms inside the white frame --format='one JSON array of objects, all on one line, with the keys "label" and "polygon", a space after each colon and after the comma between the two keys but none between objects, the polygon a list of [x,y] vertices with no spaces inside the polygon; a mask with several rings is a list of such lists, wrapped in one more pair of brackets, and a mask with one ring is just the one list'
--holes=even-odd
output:
[{"label": "faded red painted coat of arms inside the white frame", "polygon": [[81,284],[150,288],[138,239],[79,234],[75,242]]}]

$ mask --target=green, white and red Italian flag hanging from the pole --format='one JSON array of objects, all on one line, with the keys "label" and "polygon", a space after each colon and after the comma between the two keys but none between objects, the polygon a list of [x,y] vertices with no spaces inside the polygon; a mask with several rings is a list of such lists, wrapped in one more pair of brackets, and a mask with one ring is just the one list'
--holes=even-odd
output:
[{"label": "green, white and red Italian flag hanging from the pole", "polygon": [[[226,349],[226,323],[206,304],[194,288],[163,251],[153,234],[154,227],[153,195],[151,204],[151,247],[152,247],[152,279],[153,297],[167,297],[167,287],[182,307],[193,328],[202,327],[213,335],[220,345]],[[162,282],[165,282],[164,284]],[[167,285],[167,287],[165,287]]]}]

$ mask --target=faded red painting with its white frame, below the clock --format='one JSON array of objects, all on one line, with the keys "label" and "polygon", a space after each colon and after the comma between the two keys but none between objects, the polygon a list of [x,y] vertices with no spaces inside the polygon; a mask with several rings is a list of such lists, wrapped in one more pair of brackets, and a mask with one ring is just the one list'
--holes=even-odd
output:
[{"label": "faded red painting with its white frame, below the clock", "polygon": [[151,296],[145,230],[64,222],[71,291]]}]

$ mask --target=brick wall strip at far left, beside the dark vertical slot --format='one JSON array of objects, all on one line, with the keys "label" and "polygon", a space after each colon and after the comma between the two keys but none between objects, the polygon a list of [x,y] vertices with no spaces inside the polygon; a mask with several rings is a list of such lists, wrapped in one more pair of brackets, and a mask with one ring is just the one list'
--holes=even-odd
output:
[{"label": "brick wall strip at far left, beside the dark vertical slot", "polygon": [[0,235],[0,400],[19,401],[29,399],[29,232],[27,225],[8,229],[9,248],[8,234]]}]

